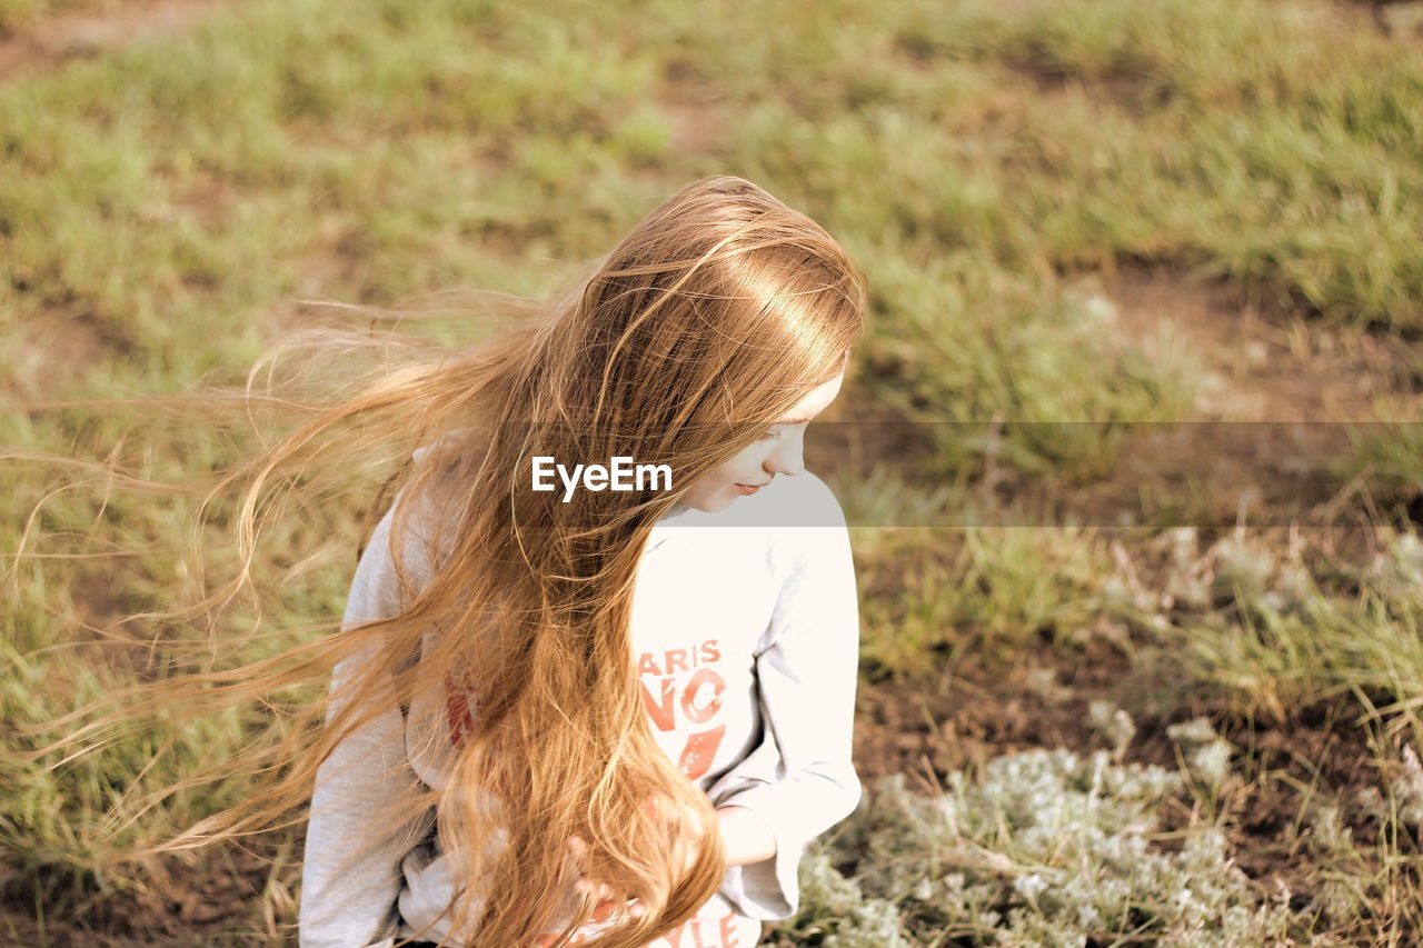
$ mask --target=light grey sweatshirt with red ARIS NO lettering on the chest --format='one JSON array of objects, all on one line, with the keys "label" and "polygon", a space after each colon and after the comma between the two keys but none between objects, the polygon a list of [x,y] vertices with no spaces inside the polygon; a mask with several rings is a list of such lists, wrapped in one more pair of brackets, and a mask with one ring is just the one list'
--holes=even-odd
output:
[{"label": "light grey sweatshirt with red ARIS NO lettering on the chest", "polygon": [[[387,512],[356,569],[347,626],[397,608],[390,534]],[[417,581],[428,576],[424,548],[404,544]],[[643,552],[630,631],[657,743],[714,806],[747,807],[776,836],[773,858],[729,867],[717,895],[652,945],[750,948],[758,920],[795,914],[807,843],[859,800],[850,760],[855,576],[830,488],[805,471],[721,512],[675,507]],[[356,699],[342,685],[359,660],[336,668],[333,705]],[[423,838],[428,827],[390,820],[388,806],[411,779],[441,786],[450,729],[458,727],[453,707],[448,695],[417,696],[408,715],[374,719],[322,764],[302,874],[302,948],[448,935],[440,914],[454,887],[478,883],[451,878],[438,846]]]}]

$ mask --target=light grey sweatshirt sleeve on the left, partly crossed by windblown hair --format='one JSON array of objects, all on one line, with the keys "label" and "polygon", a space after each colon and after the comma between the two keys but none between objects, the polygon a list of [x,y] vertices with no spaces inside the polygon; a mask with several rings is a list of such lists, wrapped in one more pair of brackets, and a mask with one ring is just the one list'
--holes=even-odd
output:
[{"label": "light grey sweatshirt sleeve on the left, partly crossed by windblown hair", "polygon": [[[390,552],[393,510],[376,527],[356,568],[344,628],[387,618],[397,609]],[[406,551],[411,567],[418,564],[414,547]],[[349,693],[366,659],[357,653],[336,666],[327,715],[356,700],[377,700],[388,710],[342,740],[316,773],[302,867],[302,948],[393,944],[400,860],[421,831],[416,820],[391,818],[394,801],[416,779],[406,759],[398,703],[379,685],[374,693]]]}]

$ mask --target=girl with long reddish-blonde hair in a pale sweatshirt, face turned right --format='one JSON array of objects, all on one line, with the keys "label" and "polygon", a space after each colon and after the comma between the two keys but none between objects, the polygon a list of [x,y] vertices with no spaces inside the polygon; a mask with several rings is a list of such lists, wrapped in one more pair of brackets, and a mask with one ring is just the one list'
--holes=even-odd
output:
[{"label": "girl with long reddish-blonde hair in a pale sweatshirt, face turned right", "polygon": [[748,948],[795,912],[859,797],[852,564],[801,444],[864,302],[818,225],[707,178],[441,369],[470,423],[356,571],[305,948]]}]

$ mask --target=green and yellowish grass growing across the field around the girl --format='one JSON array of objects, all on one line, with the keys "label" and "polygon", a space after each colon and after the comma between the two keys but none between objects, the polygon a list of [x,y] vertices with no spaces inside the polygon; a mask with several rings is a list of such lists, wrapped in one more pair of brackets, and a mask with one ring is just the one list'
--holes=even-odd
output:
[{"label": "green and yellowish grass growing across the field around the girl", "polygon": [[[10,0],[0,33],[64,6]],[[1130,342],[1101,289],[1121,268],[1171,265],[1311,326],[1416,344],[1423,56],[1366,17],[1227,0],[801,0],[784,13],[793,28],[766,28],[754,7],[692,16],[675,0],[558,0],[538,14],[259,1],[11,78],[0,85],[0,391],[122,399],[231,383],[300,316],[292,297],[388,303],[455,283],[542,293],[713,172],[807,211],[869,276],[855,407],[931,437],[919,457],[837,483],[858,522],[925,522],[945,505],[975,522],[1000,502],[983,487],[995,465],[1019,491],[1090,483],[1118,464],[1131,424],[1188,418],[1204,356]],[[457,317],[420,326],[451,343],[478,333]],[[995,420],[1081,424],[1009,424],[992,446],[963,437]],[[117,480],[95,491],[107,474],[24,458],[182,483],[249,437],[240,420],[195,431],[124,409],[0,417],[7,743],[27,746],[17,726],[141,672],[137,652],[95,641],[118,616],[196,589],[185,498]],[[1368,468],[1409,497],[1416,441],[1407,426],[1365,431],[1339,483]],[[340,611],[360,498],[384,463],[349,473],[351,502],[273,535],[265,581],[316,565],[273,589],[259,631]],[[1377,756],[1397,800],[1423,702],[1407,537],[1379,532],[1375,562],[1331,555],[1323,539],[1296,561],[1268,537],[1143,531],[1116,545],[1079,527],[857,530],[865,669],[912,686],[969,653],[1072,663],[1106,622],[1128,629],[1121,648],[1161,651],[1183,689],[1235,713],[1353,707],[1393,740]],[[231,551],[218,534],[203,542],[221,576]],[[246,631],[235,615],[215,633],[246,655],[268,648]],[[191,635],[174,622],[142,632],[159,653]],[[178,794],[118,837],[104,814],[270,726],[258,713],[184,723],[57,774],[6,760],[11,901],[98,924],[105,905],[151,892],[158,863],[114,870],[108,854],[240,787]],[[1366,809],[1335,804],[1346,827]],[[1403,898],[1417,847],[1393,810],[1379,817],[1392,837],[1335,833],[1299,857],[1353,907],[1355,937],[1380,944],[1417,924]]]}]

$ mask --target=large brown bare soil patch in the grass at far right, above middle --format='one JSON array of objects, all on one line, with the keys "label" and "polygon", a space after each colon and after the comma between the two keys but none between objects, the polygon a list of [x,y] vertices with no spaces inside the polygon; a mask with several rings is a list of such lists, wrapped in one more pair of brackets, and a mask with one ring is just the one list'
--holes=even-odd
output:
[{"label": "large brown bare soil patch in the grass at far right, above middle", "polygon": [[1093,522],[1151,522],[1153,511],[1201,525],[1376,521],[1390,498],[1366,474],[1350,480],[1350,424],[1423,417],[1416,342],[1170,268],[1121,269],[1100,293],[1126,340],[1148,359],[1195,362],[1200,387],[1191,417],[1131,430],[1111,475],[1080,498]]}]

